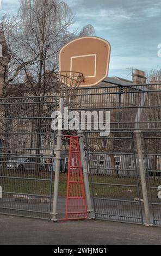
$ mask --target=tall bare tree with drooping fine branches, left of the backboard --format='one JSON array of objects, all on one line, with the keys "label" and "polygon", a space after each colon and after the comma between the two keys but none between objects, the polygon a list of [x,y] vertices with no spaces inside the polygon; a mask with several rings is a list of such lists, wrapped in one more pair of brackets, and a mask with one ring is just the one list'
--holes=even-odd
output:
[{"label": "tall bare tree with drooping fine branches, left of the backboard", "polygon": [[37,133],[37,155],[40,155],[41,132],[44,129],[40,118],[44,111],[41,96],[53,94],[58,89],[53,74],[59,69],[60,48],[71,39],[94,34],[91,25],[85,26],[80,32],[72,32],[72,22],[71,9],[65,2],[20,0],[20,10],[15,22],[5,29],[5,62],[1,61],[1,65],[5,65],[6,72],[2,95],[40,96],[36,99],[38,104],[35,105],[34,112],[39,118],[33,120],[32,124]]}]

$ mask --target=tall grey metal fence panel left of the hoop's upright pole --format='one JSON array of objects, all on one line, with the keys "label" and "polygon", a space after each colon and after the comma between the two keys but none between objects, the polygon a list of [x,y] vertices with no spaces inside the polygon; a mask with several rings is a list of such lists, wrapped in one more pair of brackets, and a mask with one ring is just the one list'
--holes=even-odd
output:
[{"label": "tall grey metal fence panel left of the hoop's upright pole", "polygon": [[57,97],[7,98],[0,106],[0,212],[49,218],[55,139],[51,114]]}]

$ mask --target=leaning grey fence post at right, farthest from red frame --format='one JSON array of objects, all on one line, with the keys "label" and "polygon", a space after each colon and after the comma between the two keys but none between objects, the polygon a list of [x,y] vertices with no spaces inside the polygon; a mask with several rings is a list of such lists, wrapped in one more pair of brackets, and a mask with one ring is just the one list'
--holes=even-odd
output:
[{"label": "leaning grey fence post at right, farthest from red frame", "polygon": [[144,210],[145,210],[145,220],[146,226],[151,226],[151,219],[150,219],[150,210],[148,205],[148,196],[147,196],[147,186],[146,186],[146,176],[145,176],[145,168],[143,162],[143,149],[141,145],[141,131],[133,131],[135,133],[135,138],[137,142],[137,153],[138,153],[138,160],[139,160],[139,170],[140,170],[140,178],[141,178],[141,188],[143,192],[143,199],[144,199]]}]

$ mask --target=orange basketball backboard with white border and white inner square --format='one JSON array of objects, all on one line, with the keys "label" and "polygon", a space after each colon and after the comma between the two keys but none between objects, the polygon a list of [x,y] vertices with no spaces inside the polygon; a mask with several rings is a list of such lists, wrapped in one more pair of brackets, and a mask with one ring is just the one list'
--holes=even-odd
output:
[{"label": "orange basketball backboard with white border and white inner square", "polygon": [[59,53],[59,70],[80,72],[80,87],[95,86],[108,75],[110,44],[96,36],[85,36],[66,44]]}]

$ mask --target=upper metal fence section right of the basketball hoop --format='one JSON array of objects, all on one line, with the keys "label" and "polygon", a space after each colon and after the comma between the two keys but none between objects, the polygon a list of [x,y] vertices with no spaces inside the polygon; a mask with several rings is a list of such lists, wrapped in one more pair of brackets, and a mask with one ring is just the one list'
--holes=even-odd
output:
[{"label": "upper metal fence section right of the basketball hoop", "polygon": [[80,88],[73,99],[78,111],[110,111],[110,130],[160,130],[159,84]]}]

